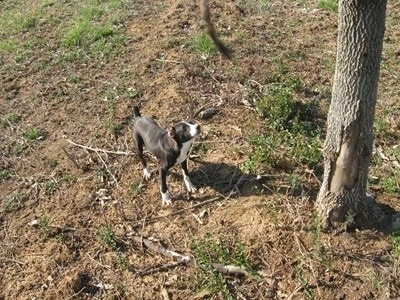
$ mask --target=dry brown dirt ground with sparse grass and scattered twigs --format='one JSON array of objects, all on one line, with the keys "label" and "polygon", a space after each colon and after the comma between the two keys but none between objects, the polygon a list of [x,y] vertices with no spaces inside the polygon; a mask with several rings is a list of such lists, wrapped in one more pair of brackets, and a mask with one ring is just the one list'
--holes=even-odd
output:
[{"label": "dry brown dirt ground with sparse grass and scattered twigs", "polygon": [[[298,77],[296,100],[318,103],[322,148],[337,13],[321,3],[334,1],[211,1],[232,61],[194,46],[205,25],[193,1],[22,2],[0,2],[0,299],[400,297],[394,235],[320,231],[322,160],[279,148],[279,165],[249,168],[251,137],[271,134],[255,102],[274,74]],[[399,211],[379,180],[398,168],[400,6],[389,2],[369,193]],[[75,38],[85,12],[112,29]],[[142,179],[134,105],[163,127],[201,123],[197,193],[174,168],[163,206],[151,155]]]}]

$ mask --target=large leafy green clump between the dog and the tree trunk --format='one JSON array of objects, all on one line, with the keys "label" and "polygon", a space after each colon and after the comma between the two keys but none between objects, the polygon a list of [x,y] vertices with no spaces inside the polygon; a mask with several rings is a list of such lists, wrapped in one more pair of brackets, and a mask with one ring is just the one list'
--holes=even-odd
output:
[{"label": "large leafy green clump between the dog and the tree trunk", "polygon": [[253,135],[249,141],[251,154],[243,169],[256,172],[265,167],[278,167],[287,161],[315,167],[322,160],[320,130],[315,124],[316,103],[294,100],[302,90],[297,77],[273,75],[263,97],[256,101],[259,115],[268,130],[264,135]]}]

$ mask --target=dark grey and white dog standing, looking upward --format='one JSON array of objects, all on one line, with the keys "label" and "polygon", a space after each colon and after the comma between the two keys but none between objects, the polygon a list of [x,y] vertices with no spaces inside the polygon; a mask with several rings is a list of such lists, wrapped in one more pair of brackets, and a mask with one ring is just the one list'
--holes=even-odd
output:
[{"label": "dark grey and white dog standing, looking upward", "polygon": [[197,189],[189,178],[187,158],[190,146],[201,133],[200,125],[191,121],[182,121],[165,130],[153,119],[142,117],[137,106],[133,108],[133,116],[133,140],[146,180],[150,179],[151,172],[143,156],[143,146],[158,159],[162,203],[171,204],[166,178],[168,170],[176,164],[180,164],[182,168],[187,190],[190,193],[196,192]]}]

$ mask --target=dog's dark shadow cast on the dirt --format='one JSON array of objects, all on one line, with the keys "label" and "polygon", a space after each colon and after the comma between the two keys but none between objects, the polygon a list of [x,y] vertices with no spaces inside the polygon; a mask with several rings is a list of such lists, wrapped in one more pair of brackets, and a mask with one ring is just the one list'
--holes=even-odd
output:
[{"label": "dog's dark shadow cast on the dirt", "polygon": [[239,167],[224,162],[191,160],[196,167],[190,171],[190,178],[198,188],[209,187],[225,197],[255,193],[255,176],[242,172]]}]

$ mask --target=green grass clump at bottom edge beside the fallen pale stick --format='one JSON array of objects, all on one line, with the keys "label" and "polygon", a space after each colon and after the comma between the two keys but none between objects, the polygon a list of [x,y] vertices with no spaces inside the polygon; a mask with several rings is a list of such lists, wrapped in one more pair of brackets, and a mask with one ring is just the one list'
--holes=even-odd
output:
[{"label": "green grass clump at bottom edge beside the fallen pale stick", "polygon": [[238,238],[228,241],[206,234],[203,239],[193,241],[191,248],[200,267],[202,284],[199,290],[208,290],[211,294],[221,293],[224,299],[234,297],[230,289],[230,279],[214,270],[212,263],[244,267],[252,272],[245,247]]}]

